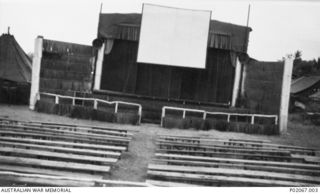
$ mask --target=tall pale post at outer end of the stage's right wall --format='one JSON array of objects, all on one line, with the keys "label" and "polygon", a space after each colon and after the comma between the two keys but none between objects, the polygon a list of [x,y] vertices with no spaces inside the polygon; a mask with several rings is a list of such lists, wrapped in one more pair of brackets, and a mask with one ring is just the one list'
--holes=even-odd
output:
[{"label": "tall pale post at outer end of the stage's right wall", "polygon": [[284,61],[283,67],[281,101],[279,112],[279,131],[281,134],[287,132],[292,68],[293,58],[287,57]]}]

